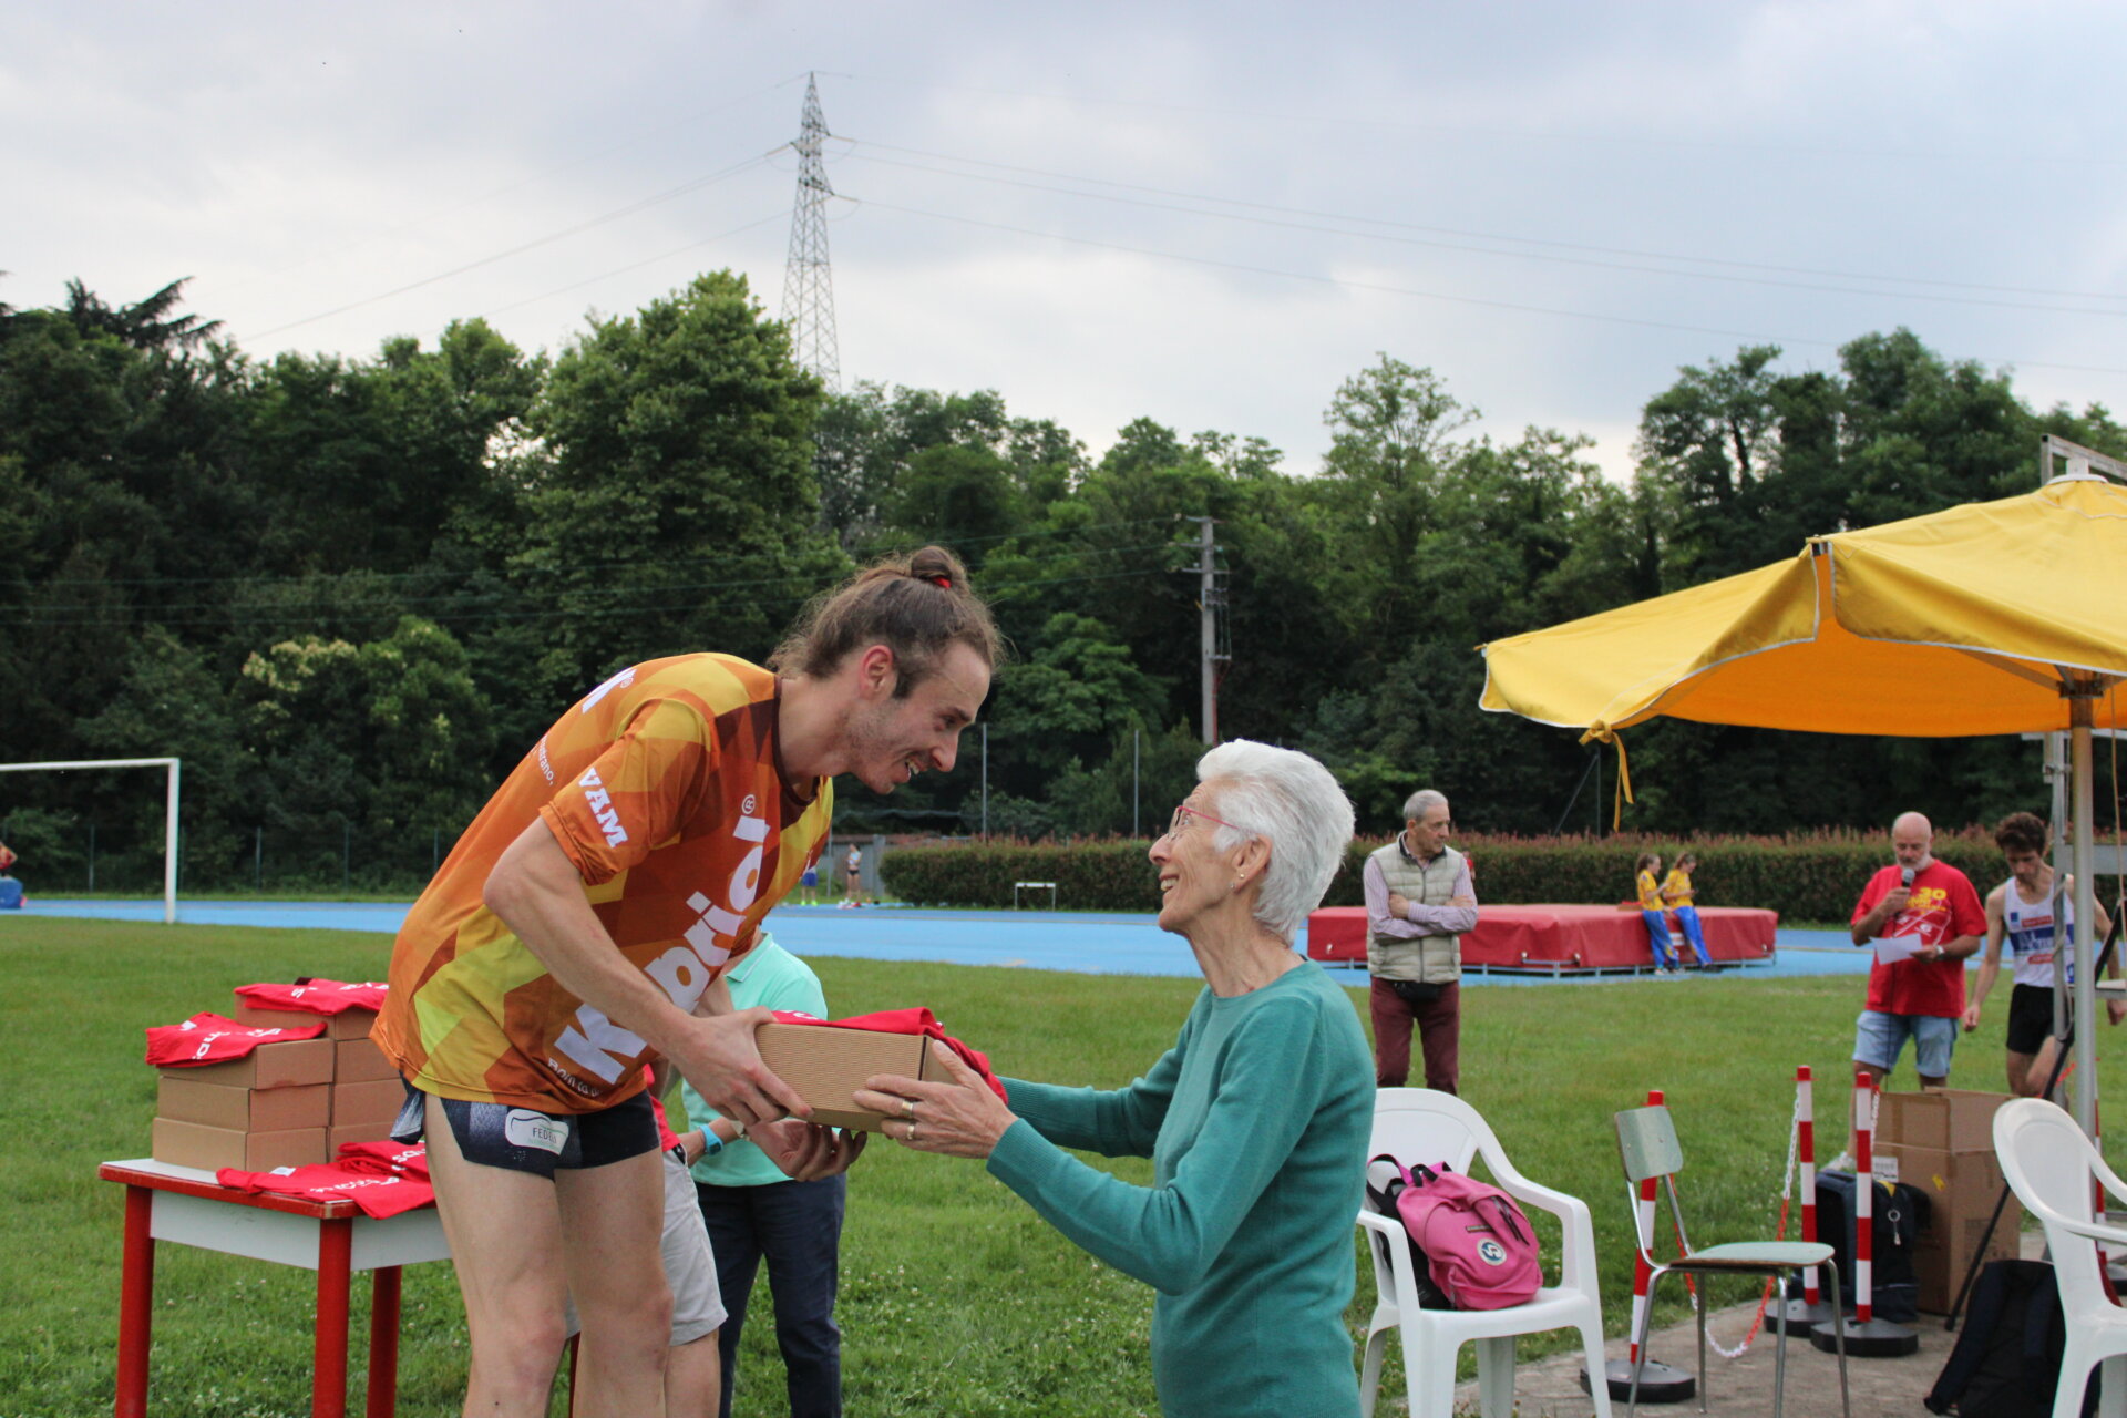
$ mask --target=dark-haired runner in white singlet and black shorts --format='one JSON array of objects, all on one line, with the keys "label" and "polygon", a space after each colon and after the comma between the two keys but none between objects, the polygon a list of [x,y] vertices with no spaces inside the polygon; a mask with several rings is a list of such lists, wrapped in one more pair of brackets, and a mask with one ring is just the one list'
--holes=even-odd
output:
[{"label": "dark-haired runner in white singlet and black shorts", "polygon": [[[1995,827],[2008,880],[1987,893],[1987,955],[1980,957],[1980,976],[1972,984],[1972,1003],[1965,1006],[1965,1033],[1972,1033],[1980,1027],[1980,1008],[2002,974],[2006,944],[2014,982],[2008,993],[2008,1091],[2019,1097],[2044,1093],[2053,1074],[2053,980],[2063,959],[2065,978],[2076,978],[2076,878],[2059,874],[2061,921],[2067,925],[2061,931],[2053,912],[2055,870],[2046,861],[2050,835],[2044,818],[2031,812],[2010,812]],[[2112,921],[2097,908],[2097,938],[2110,929]],[[2118,974],[2118,961],[2112,963],[2112,974]],[[2121,1023],[2127,1001],[2106,999],[2106,1014],[2114,1025]]]}]

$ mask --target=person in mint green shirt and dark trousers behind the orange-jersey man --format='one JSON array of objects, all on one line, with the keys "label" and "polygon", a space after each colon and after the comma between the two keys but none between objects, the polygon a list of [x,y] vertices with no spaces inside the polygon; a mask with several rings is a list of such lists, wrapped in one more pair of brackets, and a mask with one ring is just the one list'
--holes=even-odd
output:
[{"label": "person in mint green shirt and dark trousers behind the orange-jersey man", "polygon": [[[723,978],[738,1010],[766,1006],[827,1018],[819,976],[768,931]],[[681,1133],[681,1148],[693,1163],[693,1191],[717,1254],[717,1286],[730,1312],[717,1337],[723,1352],[719,1418],[732,1418],[738,1335],[747,1324],[747,1299],[764,1259],[791,1418],[838,1418],[842,1331],[834,1322],[834,1293],[849,1182],[840,1174],[793,1182],[691,1084],[681,1084],[681,1099],[687,1103],[687,1120],[696,1125],[696,1131]]]}]

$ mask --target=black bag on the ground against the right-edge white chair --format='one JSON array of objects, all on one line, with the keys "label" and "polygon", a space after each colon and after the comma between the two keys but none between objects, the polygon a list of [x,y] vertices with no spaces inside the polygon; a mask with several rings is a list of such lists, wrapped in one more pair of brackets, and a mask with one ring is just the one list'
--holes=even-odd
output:
[{"label": "black bag on the ground against the right-edge white chair", "polygon": [[[1972,1284],[1965,1327],[1927,1392],[1927,1412],[1961,1418],[2046,1418],[2061,1382],[2061,1293],[2044,1261],[1989,1261]],[[2097,1375],[2082,1392],[2097,1412]]]}]

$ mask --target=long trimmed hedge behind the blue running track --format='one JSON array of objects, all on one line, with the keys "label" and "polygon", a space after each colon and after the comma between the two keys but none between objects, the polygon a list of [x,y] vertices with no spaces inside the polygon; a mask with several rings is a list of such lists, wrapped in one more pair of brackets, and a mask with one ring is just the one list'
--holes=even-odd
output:
[{"label": "long trimmed hedge behind the blue running track", "polygon": [[[1380,838],[1353,842],[1344,870],[1329,884],[1325,906],[1359,904],[1359,867]],[[1631,863],[1657,853],[1668,870],[1678,850],[1693,850],[1702,906],[1759,906],[1785,921],[1838,923],[1876,867],[1891,863],[1885,835],[1819,831],[1793,838],[1699,838],[1689,844],[1655,838],[1485,838],[1466,835],[1480,901],[1589,901],[1634,897]],[[1144,859],[1146,842],[970,842],[900,848],[881,861],[881,876],[895,897],[925,906],[998,908],[1012,904],[1012,882],[1057,884],[1057,906],[1068,910],[1159,910],[1159,882]],[[2008,876],[2002,853],[1978,829],[1942,835],[1936,855],[1959,867],[1984,895]],[[2108,899],[2116,878],[2099,878]],[[1046,904],[1046,895],[1044,901]]]}]

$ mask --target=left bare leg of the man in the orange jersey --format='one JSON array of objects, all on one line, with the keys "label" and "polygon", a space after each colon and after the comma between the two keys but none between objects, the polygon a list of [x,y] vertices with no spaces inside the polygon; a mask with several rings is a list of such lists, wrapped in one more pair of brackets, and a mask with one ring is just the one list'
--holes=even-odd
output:
[{"label": "left bare leg of the man in the orange jersey", "polygon": [[553,1182],[468,1163],[428,1099],[428,1176],[472,1335],[468,1418],[545,1418],[562,1352],[562,1210]]}]

